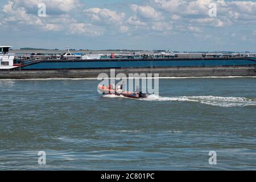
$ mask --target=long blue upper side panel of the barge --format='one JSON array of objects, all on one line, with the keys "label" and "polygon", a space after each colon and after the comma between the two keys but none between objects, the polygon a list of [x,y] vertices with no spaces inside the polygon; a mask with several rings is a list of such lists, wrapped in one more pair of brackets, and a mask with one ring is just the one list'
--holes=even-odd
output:
[{"label": "long blue upper side panel of the barge", "polygon": [[104,69],[104,68],[164,68],[164,67],[221,67],[255,65],[250,59],[191,59],[191,60],[55,60],[36,61],[22,69]]}]

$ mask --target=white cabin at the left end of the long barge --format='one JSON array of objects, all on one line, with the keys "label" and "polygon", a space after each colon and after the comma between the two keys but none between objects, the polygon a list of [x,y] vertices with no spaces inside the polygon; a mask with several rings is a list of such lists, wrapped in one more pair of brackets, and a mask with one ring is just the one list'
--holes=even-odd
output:
[{"label": "white cabin at the left end of the long barge", "polygon": [[14,66],[14,53],[9,53],[11,46],[0,46],[0,69],[12,69]]}]

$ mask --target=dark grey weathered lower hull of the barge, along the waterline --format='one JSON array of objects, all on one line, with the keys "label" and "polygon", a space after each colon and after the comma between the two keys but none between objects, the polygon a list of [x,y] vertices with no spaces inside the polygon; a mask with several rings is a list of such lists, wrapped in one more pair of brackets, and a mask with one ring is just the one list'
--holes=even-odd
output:
[{"label": "dark grey weathered lower hull of the barge, along the waterline", "polygon": [[[110,69],[0,70],[1,79],[93,78]],[[256,76],[256,65],[226,67],[118,68],[115,74],[158,73],[159,77]],[[154,76],[154,75],[153,75]]]}]

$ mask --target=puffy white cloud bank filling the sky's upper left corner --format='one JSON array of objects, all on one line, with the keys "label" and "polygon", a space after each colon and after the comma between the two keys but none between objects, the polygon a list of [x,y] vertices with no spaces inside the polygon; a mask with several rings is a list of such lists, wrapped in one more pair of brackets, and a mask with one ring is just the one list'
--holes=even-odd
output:
[{"label": "puffy white cloud bank filling the sky's upper left corner", "polygon": [[[11,0],[3,6],[3,21],[4,26],[14,27],[18,30],[19,26],[31,26],[31,28],[38,28],[42,31],[69,31],[71,33],[75,32],[74,28],[81,28],[81,32],[86,35],[101,35],[101,31],[93,31],[93,27],[90,24],[79,24],[77,20],[72,18],[69,14],[52,14],[47,15],[45,18],[40,18],[37,14],[28,13],[28,8],[34,7],[39,1],[27,0],[27,1],[16,1]],[[40,1],[42,2],[42,1]],[[68,1],[43,1],[52,6],[57,6],[56,9],[63,9],[63,11],[70,11],[73,9],[71,3],[77,2],[77,0]],[[63,3],[61,3],[63,2]],[[21,6],[23,5],[23,6]],[[69,6],[70,5],[70,6]],[[67,7],[69,6],[69,7]],[[37,5],[36,5],[37,7]],[[100,29],[99,29],[100,30]],[[78,30],[77,30],[78,31]]]}]

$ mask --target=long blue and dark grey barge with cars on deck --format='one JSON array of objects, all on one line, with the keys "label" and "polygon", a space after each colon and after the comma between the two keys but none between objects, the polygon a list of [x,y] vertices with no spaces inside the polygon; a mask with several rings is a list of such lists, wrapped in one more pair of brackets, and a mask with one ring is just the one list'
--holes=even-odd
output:
[{"label": "long blue and dark grey barge with cars on deck", "polygon": [[0,78],[78,78],[100,73],[159,73],[160,77],[256,76],[256,57],[237,54],[14,55],[0,47]]}]

